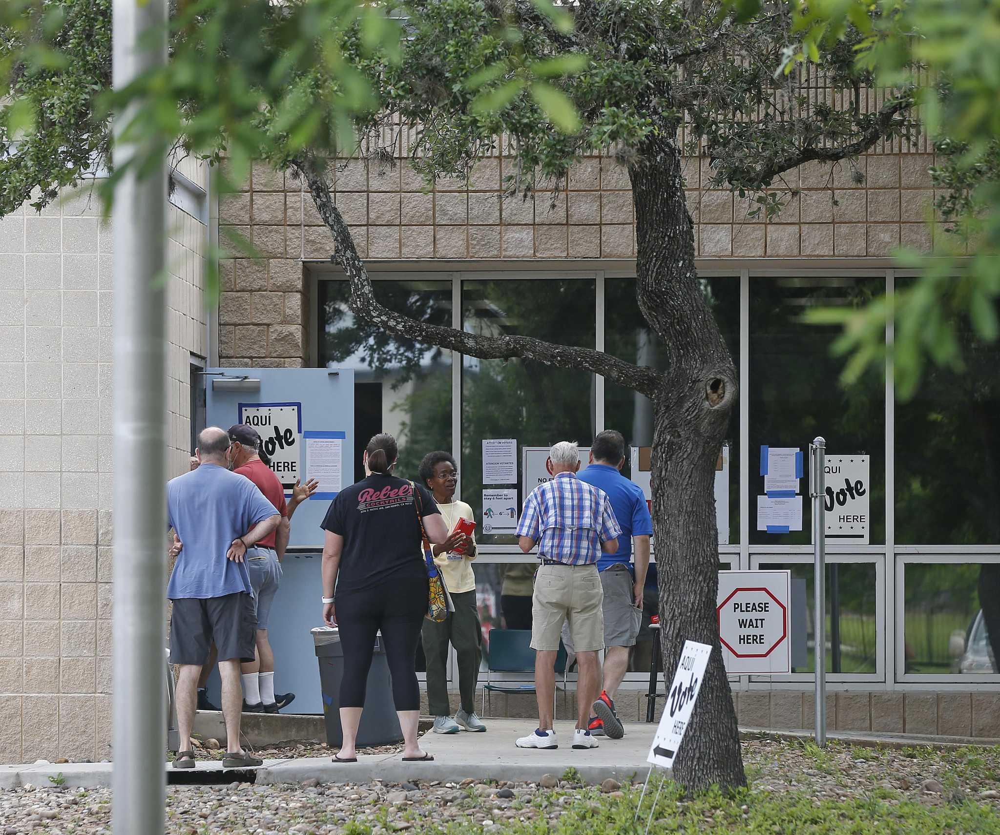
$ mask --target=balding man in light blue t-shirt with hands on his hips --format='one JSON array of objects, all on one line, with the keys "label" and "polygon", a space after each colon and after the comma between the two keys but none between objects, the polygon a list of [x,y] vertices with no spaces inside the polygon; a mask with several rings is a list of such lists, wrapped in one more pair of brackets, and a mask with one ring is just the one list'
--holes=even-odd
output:
[{"label": "balding man in light blue t-shirt with hands on his hips", "polygon": [[228,737],[222,765],[245,768],[263,762],[240,745],[240,662],[254,659],[257,626],[246,552],[278,526],[281,516],[252,481],[229,471],[232,447],[225,430],[208,427],[198,436],[198,468],[167,484],[167,522],[175,531],[177,554],[167,585],[173,603],[170,661],[180,667],[180,750],[174,768],[194,768],[191,729],[198,677],[213,642]]}]

